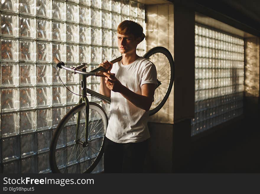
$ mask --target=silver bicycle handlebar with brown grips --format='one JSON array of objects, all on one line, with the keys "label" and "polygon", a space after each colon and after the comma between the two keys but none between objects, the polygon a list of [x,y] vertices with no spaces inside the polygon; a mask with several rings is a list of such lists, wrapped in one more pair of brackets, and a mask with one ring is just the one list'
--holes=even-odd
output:
[{"label": "silver bicycle handlebar with brown grips", "polygon": [[[115,58],[113,59],[112,61],[110,61],[111,63],[116,63],[118,61],[120,61],[122,59],[122,56],[118,57],[118,58]],[[64,62],[63,61],[60,61],[58,60],[57,58],[54,58],[54,62],[56,63],[57,67],[60,68],[60,69],[65,69],[65,70],[68,70],[68,71],[71,71],[73,72],[74,74],[82,74],[82,75],[87,75],[87,76],[99,76],[99,77],[106,77],[103,72],[98,72],[98,71],[104,71],[105,69],[103,67],[98,67],[96,69],[93,69],[92,71],[90,72],[85,72],[85,71],[79,71],[75,68],[69,68],[69,67],[66,67]],[[113,74],[113,76],[115,76],[115,74]]]}]

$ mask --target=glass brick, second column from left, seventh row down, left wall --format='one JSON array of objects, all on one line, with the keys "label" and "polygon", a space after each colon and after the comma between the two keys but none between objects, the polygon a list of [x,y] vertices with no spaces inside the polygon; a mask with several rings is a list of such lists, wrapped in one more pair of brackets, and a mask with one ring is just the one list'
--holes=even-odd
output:
[{"label": "glass brick, second column from left, seventh row down, left wall", "polygon": [[36,154],[36,135],[28,133],[21,136],[21,156],[32,156]]}]

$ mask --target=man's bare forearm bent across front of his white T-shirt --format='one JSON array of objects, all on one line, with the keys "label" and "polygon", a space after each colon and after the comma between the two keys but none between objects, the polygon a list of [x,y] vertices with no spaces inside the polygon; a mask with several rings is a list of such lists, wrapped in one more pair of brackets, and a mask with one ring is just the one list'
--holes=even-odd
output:
[{"label": "man's bare forearm bent across front of his white T-shirt", "polygon": [[150,97],[137,94],[123,85],[120,93],[136,107],[141,108],[145,111],[150,110],[150,107],[152,105],[152,99]]}]

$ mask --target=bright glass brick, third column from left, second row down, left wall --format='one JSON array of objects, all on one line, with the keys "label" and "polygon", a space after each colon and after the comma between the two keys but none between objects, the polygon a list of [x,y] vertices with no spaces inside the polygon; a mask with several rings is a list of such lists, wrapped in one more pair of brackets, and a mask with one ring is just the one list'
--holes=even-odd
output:
[{"label": "bright glass brick, third column from left, second row down, left wall", "polygon": [[37,19],[37,38],[51,40],[51,21]]}]

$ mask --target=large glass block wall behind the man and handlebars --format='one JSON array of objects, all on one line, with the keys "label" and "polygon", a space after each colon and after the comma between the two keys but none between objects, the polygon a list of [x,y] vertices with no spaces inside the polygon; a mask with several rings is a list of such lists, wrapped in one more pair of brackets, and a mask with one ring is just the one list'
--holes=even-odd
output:
[{"label": "large glass block wall behind the man and handlebars", "polygon": [[[87,62],[90,71],[120,56],[117,26],[131,19],[145,30],[144,5],[115,0],[2,0],[0,6],[0,172],[48,173],[53,130],[79,100],[62,85],[53,58],[67,66]],[[145,50],[143,41],[138,54]],[[69,89],[80,93],[79,76],[58,71]],[[88,88],[98,91],[99,80],[88,78]],[[94,172],[102,170],[103,161]]]}]

